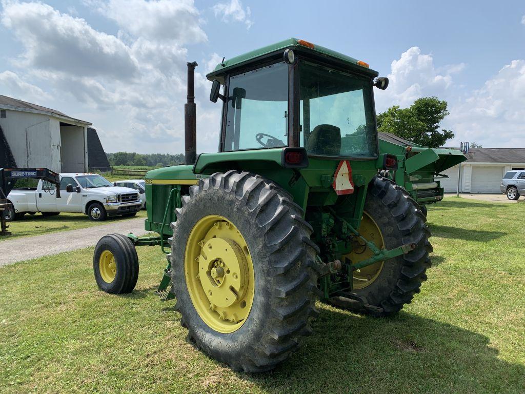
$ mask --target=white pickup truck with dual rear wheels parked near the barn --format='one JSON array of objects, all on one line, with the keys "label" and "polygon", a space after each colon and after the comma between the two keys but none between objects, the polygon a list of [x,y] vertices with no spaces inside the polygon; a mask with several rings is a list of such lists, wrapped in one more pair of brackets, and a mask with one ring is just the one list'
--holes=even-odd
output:
[{"label": "white pickup truck with dual rear wheels parked near the barn", "polygon": [[5,211],[6,220],[20,219],[25,213],[78,212],[102,221],[108,215],[134,216],[142,207],[137,190],[114,186],[98,174],[60,174],[59,199],[55,192],[55,185],[41,180],[33,189],[13,189],[7,196],[12,208]]}]

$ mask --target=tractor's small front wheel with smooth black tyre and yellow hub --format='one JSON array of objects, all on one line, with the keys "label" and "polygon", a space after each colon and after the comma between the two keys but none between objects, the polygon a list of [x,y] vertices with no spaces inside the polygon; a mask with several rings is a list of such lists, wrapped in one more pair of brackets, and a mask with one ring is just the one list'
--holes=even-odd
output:
[{"label": "tractor's small front wheel with smooth black tyre and yellow hub", "polygon": [[139,258],[131,240],[122,234],[104,235],[93,254],[93,272],[106,293],[131,293],[139,278]]}]

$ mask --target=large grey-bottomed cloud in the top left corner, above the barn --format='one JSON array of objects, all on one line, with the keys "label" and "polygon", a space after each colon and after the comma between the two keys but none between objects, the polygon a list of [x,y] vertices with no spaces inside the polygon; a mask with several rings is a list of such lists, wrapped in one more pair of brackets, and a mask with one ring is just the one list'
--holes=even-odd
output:
[{"label": "large grey-bottomed cloud in the top left corner, above the barn", "polygon": [[47,4],[4,3],[2,23],[23,45],[27,67],[126,80],[137,75],[137,62],[121,40]]}]

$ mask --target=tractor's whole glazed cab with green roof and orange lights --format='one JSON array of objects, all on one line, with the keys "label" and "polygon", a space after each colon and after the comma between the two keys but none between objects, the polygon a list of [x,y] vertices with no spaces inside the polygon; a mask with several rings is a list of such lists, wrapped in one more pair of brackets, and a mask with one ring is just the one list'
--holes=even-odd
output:
[{"label": "tractor's whole glazed cab with green roof and orange lights", "polygon": [[363,61],[290,38],[223,61],[207,78],[211,100],[223,102],[219,152],[301,147],[325,159],[378,156],[373,86],[387,80]]}]

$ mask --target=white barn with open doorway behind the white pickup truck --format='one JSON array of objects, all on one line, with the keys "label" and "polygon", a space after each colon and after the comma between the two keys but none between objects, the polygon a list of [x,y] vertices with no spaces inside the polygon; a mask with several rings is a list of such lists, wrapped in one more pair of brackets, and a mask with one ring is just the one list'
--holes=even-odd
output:
[{"label": "white barn with open doorway behind the white pickup truck", "polygon": [[[0,151],[17,167],[56,172],[88,171],[90,122],[54,109],[0,95]],[[0,158],[0,159],[2,159]],[[5,159],[4,159],[5,160]]]}]

